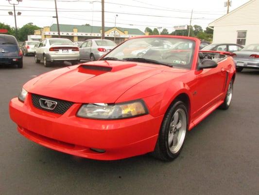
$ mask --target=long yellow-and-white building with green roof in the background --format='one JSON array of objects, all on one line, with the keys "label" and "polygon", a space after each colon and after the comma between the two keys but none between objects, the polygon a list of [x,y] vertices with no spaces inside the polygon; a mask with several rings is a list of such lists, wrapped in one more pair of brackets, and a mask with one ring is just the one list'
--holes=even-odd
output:
[{"label": "long yellow-and-white building with green roof in the background", "polygon": [[[70,25],[59,24],[61,38],[70,39],[72,41],[85,41],[86,39],[101,39],[102,27],[101,26],[86,26],[86,25]],[[57,24],[52,26],[43,27],[42,29],[35,30],[34,35],[40,35],[41,39],[45,38],[58,38]],[[131,37],[148,35],[143,33],[137,28],[121,28],[121,27],[105,27],[104,37],[105,39],[114,40],[116,43],[121,43],[125,39]]]}]

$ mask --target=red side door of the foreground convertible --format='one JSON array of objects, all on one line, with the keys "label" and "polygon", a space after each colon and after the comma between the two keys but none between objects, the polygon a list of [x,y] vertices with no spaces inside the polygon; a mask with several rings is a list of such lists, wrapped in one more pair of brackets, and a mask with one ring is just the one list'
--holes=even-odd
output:
[{"label": "red side door of the foreground convertible", "polygon": [[[201,62],[199,62],[201,63]],[[198,64],[199,64],[198,63]],[[215,68],[195,70],[195,91],[194,98],[194,114],[196,118],[201,116],[208,108],[215,105],[224,95],[224,86],[226,74],[224,64],[219,63]]]}]

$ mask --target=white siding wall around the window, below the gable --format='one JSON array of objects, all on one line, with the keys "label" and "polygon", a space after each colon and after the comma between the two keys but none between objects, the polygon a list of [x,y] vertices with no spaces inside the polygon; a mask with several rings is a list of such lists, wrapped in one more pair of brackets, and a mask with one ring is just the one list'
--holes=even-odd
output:
[{"label": "white siding wall around the window, below the gable", "polygon": [[237,43],[237,31],[245,30],[247,31],[245,45],[259,43],[259,24],[214,26],[213,43]]}]

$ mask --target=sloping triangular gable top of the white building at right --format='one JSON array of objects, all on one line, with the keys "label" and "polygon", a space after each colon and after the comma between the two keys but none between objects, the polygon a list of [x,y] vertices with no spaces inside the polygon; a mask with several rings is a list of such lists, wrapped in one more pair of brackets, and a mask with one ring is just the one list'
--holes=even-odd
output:
[{"label": "sloping triangular gable top of the white building at right", "polygon": [[212,21],[208,26],[227,26],[259,23],[259,0],[250,0],[228,14]]}]

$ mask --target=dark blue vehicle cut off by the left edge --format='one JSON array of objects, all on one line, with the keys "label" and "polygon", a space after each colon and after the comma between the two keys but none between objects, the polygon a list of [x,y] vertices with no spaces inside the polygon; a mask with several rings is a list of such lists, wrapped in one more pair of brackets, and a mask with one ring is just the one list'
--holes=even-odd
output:
[{"label": "dark blue vehicle cut off by the left edge", "polygon": [[14,36],[0,34],[0,65],[22,68],[22,51]]}]

